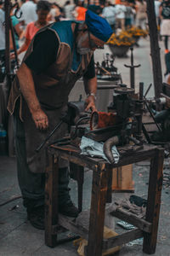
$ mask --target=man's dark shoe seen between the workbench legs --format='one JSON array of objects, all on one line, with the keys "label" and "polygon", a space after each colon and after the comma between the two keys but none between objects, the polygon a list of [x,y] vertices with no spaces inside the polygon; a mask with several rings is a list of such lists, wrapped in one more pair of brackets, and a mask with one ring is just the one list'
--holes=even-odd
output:
[{"label": "man's dark shoe seen between the workbench legs", "polygon": [[59,213],[68,217],[77,218],[79,212],[77,207],[75,207],[72,203],[72,201],[69,201],[65,205],[59,206]]}]

